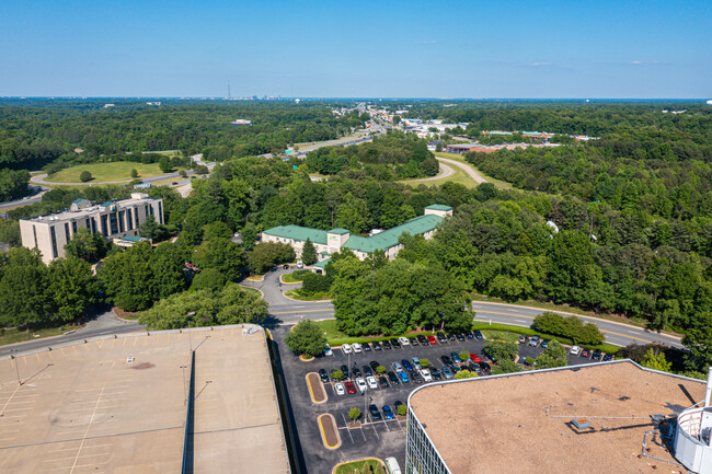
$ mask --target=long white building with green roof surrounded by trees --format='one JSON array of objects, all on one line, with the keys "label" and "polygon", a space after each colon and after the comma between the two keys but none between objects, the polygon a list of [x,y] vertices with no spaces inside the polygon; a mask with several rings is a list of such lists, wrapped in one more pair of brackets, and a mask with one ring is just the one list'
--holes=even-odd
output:
[{"label": "long white building with green roof surrounded by trees", "polygon": [[301,258],[305,242],[309,239],[319,255],[319,263],[314,265],[317,268],[323,268],[331,254],[341,251],[342,247],[351,248],[359,259],[366,258],[377,250],[383,251],[388,258],[393,259],[402,247],[398,242],[401,234],[407,232],[411,235],[430,239],[437,226],[447,216],[452,216],[450,206],[434,204],[425,208],[423,216],[378,233],[372,232],[369,236],[352,235],[348,230],[341,228],[325,231],[301,226],[279,226],[262,232],[262,242],[288,243],[295,248],[297,258]]}]

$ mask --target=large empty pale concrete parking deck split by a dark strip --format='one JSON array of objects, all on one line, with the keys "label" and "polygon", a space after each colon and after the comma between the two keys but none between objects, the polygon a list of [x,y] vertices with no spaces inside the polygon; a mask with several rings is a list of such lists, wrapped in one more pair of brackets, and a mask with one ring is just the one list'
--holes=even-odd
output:
[{"label": "large empty pale concrete parking deck split by a dark strip", "polygon": [[[0,472],[180,472],[195,349],[195,473],[289,473],[265,335],[95,338],[0,360]],[[128,357],[134,357],[129,362]]]}]

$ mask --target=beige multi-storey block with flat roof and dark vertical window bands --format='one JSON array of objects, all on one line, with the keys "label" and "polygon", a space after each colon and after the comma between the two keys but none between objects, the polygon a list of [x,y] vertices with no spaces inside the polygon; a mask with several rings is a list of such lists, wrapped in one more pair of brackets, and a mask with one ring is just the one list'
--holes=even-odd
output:
[{"label": "beige multi-storey block with flat roof and dark vertical window bands", "polygon": [[107,240],[138,236],[138,228],[153,216],[163,223],[163,199],[133,193],[127,199],[92,204],[77,199],[69,209],[20,220],[22,245],[38,248],[42,259],[49,262],[65,256],[65,245],[80,229],[101,233]]}]

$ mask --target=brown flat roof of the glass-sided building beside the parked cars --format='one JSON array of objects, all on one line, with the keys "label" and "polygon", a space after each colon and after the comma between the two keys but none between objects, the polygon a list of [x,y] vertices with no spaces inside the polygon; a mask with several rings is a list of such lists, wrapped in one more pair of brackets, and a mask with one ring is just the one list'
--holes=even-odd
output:
[{"label": "brown flat roof of the glass-sided building beside the parked cars", "polygon": [[[639,459],[651,415],[704,400],[703,381],[630,360],[430,384],[409,403],[453,474],[650,473]],[[577,431],[586,418],[593,430]],[[659,437],[657,438],[659,440]],[[650,455],[675,461],[658,443]]]}]

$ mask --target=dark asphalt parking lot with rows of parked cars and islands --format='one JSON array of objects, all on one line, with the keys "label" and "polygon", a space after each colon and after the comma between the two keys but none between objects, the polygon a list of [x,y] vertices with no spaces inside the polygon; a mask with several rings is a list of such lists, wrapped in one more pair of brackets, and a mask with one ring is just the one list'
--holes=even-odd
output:
[{"label": "dark asphalt parking lot with rows of parked cars and islands", "polygon": [[[332,356],[323,356],[312,361],[305,362],[299,357],[286,349],[282,343],[287,327],[279,327],[274,332],[275,340],[280,346],[282,366],[287,381],[289,397],[298,428],[299,441],[305,455],[305,461],[309,472],[330,472],[338,462],[359,459],[364,456],[377,456],[384,459],[395,456],[404,466],[405,455],[405,417],[394,416],[393,419],[386,420],[382,407],[388,405],[394,415],[397,415],[395,402],[407,403],[410,393],[422,384],[414,383],[409,377],[409,382],[399,383],[388,382],[387,386],[380,384],[372,389],[367,388],[364,393],[356,388],[355,393],[345,391],[343,395],[336,393],[335,384],[337,381],[332,380],[331,373],[346,366],[349,372],[351,381],[355,382],[353,375],[354,369],[364,372],[370,368],[370,362],[375,361],[383,366],[388,371],[393,371],[392,363],[402,363],[402,360],[410,360],[413,357],[418,359],[428,359],[432,368],[440,370],[445,363],[441,356],[450,357],[450,352],[460,352],[467,350],[471,354],[478,354],[486,363],[491,361],[483,356],[484,339],[466,338],[464,340],[448,340],[446,344],[420,344],[417,346],[401,345],[400,347],[391,346],[390,349],[369,350],[361,352],[345,354],[340,347],[334,347]],[[519,345],[520,358],[536,358],[544,349],[541,345],[537,347],[528,344]],[[590,358],[577,356],[567,356],[570,365],[581,365],[592,362]],[[329,382],[323,382],[328,400],[321,404],[311,402],[309,390],[305,381],[305,375],[310,372],[319,372],[324,369],[329,374]],[[371,369],[372,371],[372,369]],[[483,373],[484,374],[484,373]],[[378,375],[374,373],[378,381]],[[388,379],[388,375],[384,375]],[[444,379],[445,380],[445,379]],[[341,381],[344,383],[345,381]],[[425,383],[425,382],[424,382]],[[375,420],[369,413],[369,405],[376,405],[381,419]],[[361,411],[361,421],[358,428],[348,428],[348,411],[357,407]],[[317,417],[321,414],[330,413],[334,416],[338,426],[341,436],[341,448],[336,450],[326,449],[321,442]]]}]

